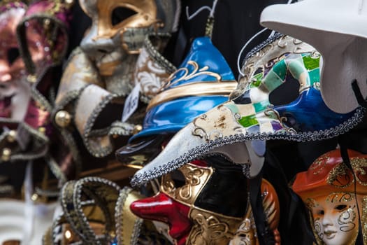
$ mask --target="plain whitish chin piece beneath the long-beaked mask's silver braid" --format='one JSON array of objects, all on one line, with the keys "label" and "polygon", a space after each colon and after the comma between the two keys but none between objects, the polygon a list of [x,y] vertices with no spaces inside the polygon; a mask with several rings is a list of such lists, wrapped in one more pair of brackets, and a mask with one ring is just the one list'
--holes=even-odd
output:
[{"label": "plain whitish chin piece beneath the long-beaked mask's silver braid", "polygon": [[247,178],[249,179],[256,177],[264,165],[264,156],[258,155],[254,151],[252,141],[220,146],[208,153],[208,155],[216,154],[224,156],[224,158],[233,162],[233,164],[243,165],[244,167],[245,165],[250,166],[250,171],[246,172]]}]

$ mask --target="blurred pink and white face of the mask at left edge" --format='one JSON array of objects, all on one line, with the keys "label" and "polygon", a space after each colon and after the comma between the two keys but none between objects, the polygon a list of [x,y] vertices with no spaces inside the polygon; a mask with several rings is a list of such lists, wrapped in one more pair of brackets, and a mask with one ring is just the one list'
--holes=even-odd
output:
[{"label": "blurred pink and white face of the mask at left edge", "polygon": [[23,120],[31,96],[31,87],[20,57],[16,29],[27,6],[17,2],[17,6],[8,3],[0,6],[0,9],[0,34],[3,36],[0,41],[0,116]]}]

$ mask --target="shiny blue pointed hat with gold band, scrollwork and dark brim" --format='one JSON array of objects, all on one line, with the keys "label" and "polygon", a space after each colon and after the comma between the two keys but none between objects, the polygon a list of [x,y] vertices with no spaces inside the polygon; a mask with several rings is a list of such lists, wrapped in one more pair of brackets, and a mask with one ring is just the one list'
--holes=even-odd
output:
[{"label": "shiny blue pointed hat with gold band, scrollwork and dark brim", "polygon": [[225,102],[236,85],[229,65],[210,38],[194,39],[185,60],[148,104],[143,130],[117,150],[117,159],[125,165],[143,167],[171,135]]}]

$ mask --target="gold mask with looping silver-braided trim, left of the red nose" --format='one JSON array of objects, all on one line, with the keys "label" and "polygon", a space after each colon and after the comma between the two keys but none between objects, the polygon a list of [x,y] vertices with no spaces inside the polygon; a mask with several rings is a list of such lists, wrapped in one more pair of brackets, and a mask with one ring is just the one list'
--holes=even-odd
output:
[{"label": "gold mask with looping silver-braided trim, left of the red nose", "polygon": [[171,244],[150,221],[131,213],[131,202],[140,198],[135,190],[99,177],[69,181],[62,189],[63,211],[45,232],[43,245]]}]

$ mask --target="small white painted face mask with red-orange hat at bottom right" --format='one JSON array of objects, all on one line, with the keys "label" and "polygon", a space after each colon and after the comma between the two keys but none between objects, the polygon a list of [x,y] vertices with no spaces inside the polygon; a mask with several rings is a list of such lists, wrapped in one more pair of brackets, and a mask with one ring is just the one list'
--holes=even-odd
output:
[{"label": "small white painted face mask with red-orange hat at bottom right", "polygon": [[367,242],[366,228],[359,228],[359,221],[366,223],[366,155],[350,150],[348,155],[356,176],[355,189],[352,171],[339,150],[317,158],[293,183],[294,192],[310,210],[318,244],[356,244],[359,230],[364,244]]}]

